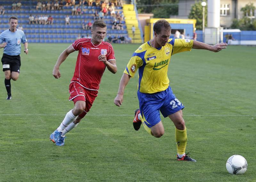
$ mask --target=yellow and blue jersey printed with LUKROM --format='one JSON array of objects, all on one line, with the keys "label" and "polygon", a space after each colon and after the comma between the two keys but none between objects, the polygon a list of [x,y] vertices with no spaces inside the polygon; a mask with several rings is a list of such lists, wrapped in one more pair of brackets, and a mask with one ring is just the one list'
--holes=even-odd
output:
[{"label": "yellow and blue jersey printed with LUKROM", "polygon": [[124,73],[134,77],[139,69],[138,90],[142,93],[156,93],[164,91],[169,86],[167,76],[171,56],[191,51],[193,40],[169,39],[163,47],[155,48],[150,41],[142,44],[132,55]]}]

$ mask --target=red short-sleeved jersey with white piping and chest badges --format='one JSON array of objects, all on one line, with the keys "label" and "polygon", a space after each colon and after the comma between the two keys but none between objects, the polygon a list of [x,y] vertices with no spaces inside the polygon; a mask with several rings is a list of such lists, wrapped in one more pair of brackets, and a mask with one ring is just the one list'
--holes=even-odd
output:
[{"label": "red short-sleeved jersey with white piping and chest badges", "polygon": [[114,49],[108,42],[101,42],[95,46],[92,39],[78,39],[72,44],[79,51],[76,68],[71,82],[77,82],[89,90],[99,90],[101,77],[106,65],[99,61],[99,55],[106,55],[107,60],[116,60]]}]

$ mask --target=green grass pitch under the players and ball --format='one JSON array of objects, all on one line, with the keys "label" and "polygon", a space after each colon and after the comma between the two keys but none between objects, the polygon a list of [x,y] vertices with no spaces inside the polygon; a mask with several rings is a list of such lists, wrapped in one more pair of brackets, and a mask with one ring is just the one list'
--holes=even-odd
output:
[{"label": "green grass pitch under the players and ball", "polygon": [[[228,46],[220,53],[193,49],[172,56],[168,76],[185,106],[186,151],[197,160],[192,163],[176,161],[169,118],[162,117],[161,138],[143,127],[133,129],[138,75],[127,85],[123,105],[114,105],[124,68],[138,46],[113,45],[117,73],[106,69],[91,111],[57,147],[48,138],[73,108],[68,85],[77,52],[63,62],[61,78],[55,79],[53,66],[68,44],[29,44],[29,54],[21,53],[20,78],[11,82],[12,100],[5,100],[0,75],[0,181],[255,182],[255,47]],[[244,175],[226,170],[234,154],[248,162]]]}]

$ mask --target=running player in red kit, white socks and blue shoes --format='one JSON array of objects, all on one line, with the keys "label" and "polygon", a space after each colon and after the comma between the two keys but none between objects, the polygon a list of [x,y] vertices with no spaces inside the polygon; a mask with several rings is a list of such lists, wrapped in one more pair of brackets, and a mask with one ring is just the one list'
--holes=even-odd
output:
[{"label": "running player in red kit, white socks and blue shoes", "polygon": [[100,80],[106,67],[114,74],[117,71],[114,49],[111,44],[103,41],[107,25],[102,20],[95,20],[91,32],[91,39],[78,39],[65,49],[60,54],[52,71],[52,75],[56,79],[60,78],[61,63],[70,53],[79,51],[74,76],[69,85],[69,100],[72,100],[75,106],[50,135],[50,140],[58,146],[64,145],[65,135],[76,127],[89,112],[97,97]]}]

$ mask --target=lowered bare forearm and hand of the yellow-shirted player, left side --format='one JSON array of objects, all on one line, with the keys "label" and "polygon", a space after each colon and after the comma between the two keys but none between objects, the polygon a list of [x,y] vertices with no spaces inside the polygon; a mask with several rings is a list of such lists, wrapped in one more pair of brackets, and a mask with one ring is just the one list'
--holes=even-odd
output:
[{"label": "lowered bare forearm and hand of the yellow-shirted player, left side", "polygon": [[130,78],[131,78],[131,76],[124,73],[120,80],[119,89],[118,89],[116,98],[114,100],[115,105],[118,107],[120,107],[122,105],[123,97],[124,97],[124,88],[130,81]]}]

